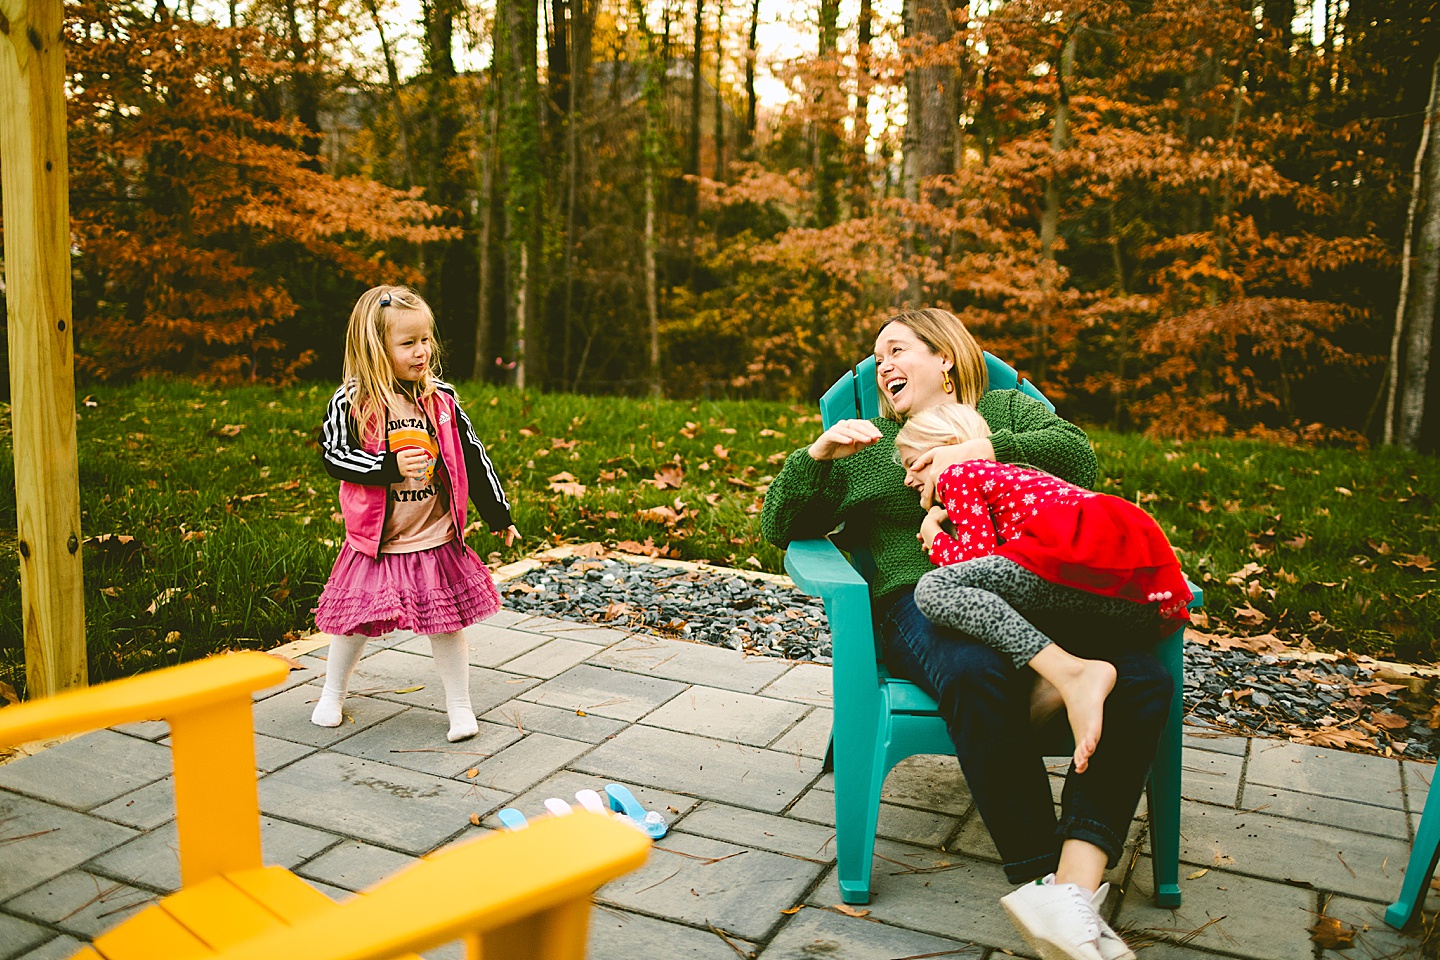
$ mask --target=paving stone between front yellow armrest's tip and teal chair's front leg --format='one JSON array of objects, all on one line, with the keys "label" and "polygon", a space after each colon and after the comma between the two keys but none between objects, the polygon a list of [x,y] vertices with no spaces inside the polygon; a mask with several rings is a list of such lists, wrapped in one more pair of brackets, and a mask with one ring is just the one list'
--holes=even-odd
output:
[{"label": "paving stone between front yellow armrest's tip and teal chair's front leg", "polygon": [[798,904],[824,869],[811,861],[675,832],[661,846],[638,871],[602,887],[598,897],[616,907],[711,923],[736,937],[763,940],[785,918],[780,911]]}]

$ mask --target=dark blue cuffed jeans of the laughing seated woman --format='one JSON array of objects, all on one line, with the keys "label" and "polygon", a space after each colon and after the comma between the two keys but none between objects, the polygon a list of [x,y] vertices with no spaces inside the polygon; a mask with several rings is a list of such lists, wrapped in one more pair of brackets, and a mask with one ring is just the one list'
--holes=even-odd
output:
[{"label": "dark blue cuffed jeans of the laughing seated woman", "polygon": [[[1035,620],[1077,656],[1106,659],[1117,674],[1104,701],[1100,746],[1084,773],[1066,777],[1056,819],[1043,747],[1068,734],[1064,712],[1040,731],[1030,724],[1035,674],[963,633],[936,626],[910,590],[878,612],[886,666],[940,707],[975,807],[1014,884],[1054,872],[1066,839],[1120,859],[1130,819],[1159,744],[1174,682],[1145,648],[1149,638],[1090,638],[1084,625]],[[1050,753],[1056,753],[1051,746]]]}]

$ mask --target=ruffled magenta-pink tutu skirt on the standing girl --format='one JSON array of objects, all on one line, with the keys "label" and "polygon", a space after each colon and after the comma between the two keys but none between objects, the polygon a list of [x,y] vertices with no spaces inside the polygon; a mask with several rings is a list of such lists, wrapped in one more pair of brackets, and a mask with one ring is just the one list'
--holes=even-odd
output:
[{"label": "ruffled magenta-pink tutu skirt on the standing girl", "polygon": [[500,609],[495,581],[459,538],[431,550],[370,558],[340,550],[315,607],[315,626],[337,636],[392,630],[454,633]]}]

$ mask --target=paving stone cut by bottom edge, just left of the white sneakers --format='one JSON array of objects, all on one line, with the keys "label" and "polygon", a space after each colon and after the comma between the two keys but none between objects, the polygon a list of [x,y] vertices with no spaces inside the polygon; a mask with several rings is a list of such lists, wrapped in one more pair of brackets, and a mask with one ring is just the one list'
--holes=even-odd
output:
[{"label": "paving stone cut by bottom edge, just left of the white sneakers", "polygon": [[894,960],[943,954],[955,960],[981,960],[985,947],[942,940],[868,918],[845,917],[831,910],[802,910],[780,928],[762,960]]}]

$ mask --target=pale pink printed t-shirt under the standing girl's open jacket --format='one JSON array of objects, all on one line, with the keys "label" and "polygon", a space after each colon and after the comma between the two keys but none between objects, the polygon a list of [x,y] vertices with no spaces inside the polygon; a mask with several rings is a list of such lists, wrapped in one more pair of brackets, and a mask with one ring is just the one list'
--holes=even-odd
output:
[{"label": "pale pink printed t-shirt under the standing girl's open jacket", "polygon": [[449,512],[449,478],[439,461],[435,427],[425,410],[400,396],[386,417],[392,450],[418,448],[431,458],[425,476],[406,476],[390,484],[389,514],[380,535],[380,553],[416,553],[449,543],[455,522]]}]

